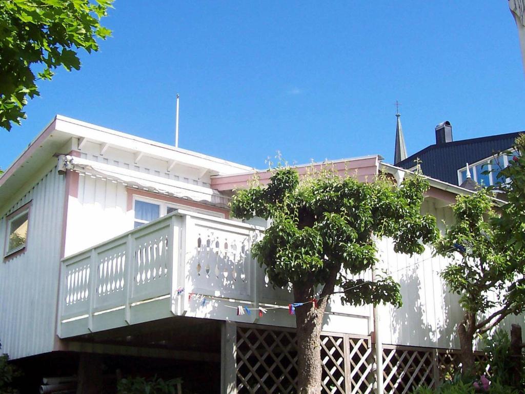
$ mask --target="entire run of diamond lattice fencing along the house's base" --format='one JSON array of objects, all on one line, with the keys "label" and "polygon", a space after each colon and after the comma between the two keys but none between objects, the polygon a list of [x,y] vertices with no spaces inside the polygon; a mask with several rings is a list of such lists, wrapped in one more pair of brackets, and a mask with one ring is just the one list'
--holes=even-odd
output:
[{"label": "entire run of diamond lattice fencing along the house's base", "polygon": [[[297,392],[297,340],[292,329],[237,326],[238,394]],[[325,394],[373,394],[374,347],[369,337],[321,335]],[[383,383],[388,394],[408,394],[418,386],[434,388],[460,368],[457,350],[383,345]],[[481,371],[487,357],[476,352]]]}]

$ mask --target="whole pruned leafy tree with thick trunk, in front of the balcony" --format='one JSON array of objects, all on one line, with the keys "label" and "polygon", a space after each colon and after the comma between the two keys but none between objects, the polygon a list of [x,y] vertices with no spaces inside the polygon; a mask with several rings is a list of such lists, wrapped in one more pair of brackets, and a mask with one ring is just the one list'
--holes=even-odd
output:
[{"label": "whole pruned leafy tree with thick trunk, in front of the balcony", "polygon": [[300,394],[321,390],[320,332],[336,285],[346,289],[341,295],[349,304],[401,306],[392,277],[371,282],[352,275],[374,268],[376,237],[393,237],[395,250],[409,254],[434,241],[434,217],[419,213],[427,189],[419,176],[397,188],[384,176],[361,183],[329,171],[299,181],[294,169],[281,168],[266,187],[254,184],[233,196],[235,217],[271,219],[253,253],[274,286],[290,283],[295,303],[304,303],[295,309]]}]

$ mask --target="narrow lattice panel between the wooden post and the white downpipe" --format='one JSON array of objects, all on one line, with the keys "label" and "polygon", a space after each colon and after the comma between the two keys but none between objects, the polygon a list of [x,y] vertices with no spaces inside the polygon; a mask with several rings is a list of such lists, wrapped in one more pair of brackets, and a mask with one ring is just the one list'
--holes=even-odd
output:
[{"label": "narrow lattice panel between the wooden post and the white downpipe", "polygon": [[373,392],[372,367],[374,359],[369,338],[350,338],[350,354],[348,368],[350,371],[351,394],[369,394]]}]

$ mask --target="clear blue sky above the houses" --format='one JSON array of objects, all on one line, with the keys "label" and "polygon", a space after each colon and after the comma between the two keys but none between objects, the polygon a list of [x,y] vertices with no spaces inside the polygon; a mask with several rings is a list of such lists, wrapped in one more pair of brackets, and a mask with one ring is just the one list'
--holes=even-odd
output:
[{"label": "clear blue sky above the houses", "polygon": [[[474,5],[475,4],[475,5]],[[379,153],[393,160],[394,101],[408,154],[525,130],[525,76],[505,0],[117,0],[113,36],[80,71],[40,84],[28,119],[0,130],[5,169],[56,113],[265,168]]]}]

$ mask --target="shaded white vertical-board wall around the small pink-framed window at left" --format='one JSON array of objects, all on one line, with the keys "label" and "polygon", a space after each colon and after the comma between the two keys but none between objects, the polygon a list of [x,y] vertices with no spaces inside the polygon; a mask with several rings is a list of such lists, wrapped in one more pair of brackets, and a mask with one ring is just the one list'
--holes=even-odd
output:
[{"label": "shaded white vertical-board wall around the small pink-framed window at left", "polygon": [[[0,263],[0,341],[12,358],[53,350],[64,195],[65,177],[54,168],[6,213],[33,201],[25,253]],[[2,257],[6,231],[3,216]]]}]

